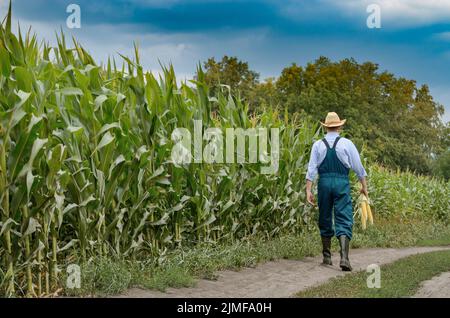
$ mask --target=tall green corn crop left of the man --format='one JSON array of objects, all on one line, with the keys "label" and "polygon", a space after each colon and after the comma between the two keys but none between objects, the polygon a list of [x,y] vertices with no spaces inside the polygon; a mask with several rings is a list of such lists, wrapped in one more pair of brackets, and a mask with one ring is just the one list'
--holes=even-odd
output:
[{"label": "tall green corn crop left of the man", "polygon": [[[276,110],[250,115],[226,89],[212,97],[200,67],[195,81],[179,84],[172,67],[158,78],[145,72],[137,48],[118,66],[71,45],[64,34],[55,47],[13,34],[11,12],[1,26],[0,294],[52,293],[67,259],[139,259],[312,223],[304,180],[317,124]],[[278,172],[263,175],[258,163],[174,165],[171,133],[193,120],[279,128]],[[448,193],[447,185],[446,198],[430,203],[447,217]],[[375,211],[384,205],[372,199]]]}]

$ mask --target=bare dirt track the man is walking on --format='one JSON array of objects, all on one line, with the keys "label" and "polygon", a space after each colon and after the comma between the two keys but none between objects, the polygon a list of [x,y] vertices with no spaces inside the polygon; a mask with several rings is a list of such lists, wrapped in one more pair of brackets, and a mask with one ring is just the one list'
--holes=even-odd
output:
[{"label": "bare dirt track the man is walking on", "polygon": [[[370,264],[383,265],[418,253],[450,250],[450,247],[376,248],[351,250],[354,271],[366,270]],[[166,292],[133,288],[118,297],[291,297],[306,288],[345,275],[339,268],[339,253],[333,266],[320,265],[321,257],[302,260],[278,260],[240,271],[221,271],[217,280],[199,280],[195,287],[169,288]]]}]

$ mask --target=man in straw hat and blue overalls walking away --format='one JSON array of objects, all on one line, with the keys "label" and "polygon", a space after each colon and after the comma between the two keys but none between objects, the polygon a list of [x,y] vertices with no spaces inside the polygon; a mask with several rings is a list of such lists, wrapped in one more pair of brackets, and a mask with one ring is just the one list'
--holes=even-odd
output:
[{"label": "man in straw hat and blue overalls walking away", "polygon": [[[353,209],[350,195],[349,172],[352,169],[361,182],[361,193],[367,194],[367,173],[361,163],[358,150],[348,139],[340,137],[339,131],[345,124],[336,113],[328,113],[322,126],[327,134],[314,143],[306,175],[306,199],[314,205],[311,192],[312,182],[319,174],[318,202],[319,229],[322,237],[323,264],[332,265],[331,239],[334,235],[341,247],[340,267],[351,271],[348,258],[352,239]],[[334,212],[334,213],[333,213]],[[333,228],[334,216],[334,228]]]}]

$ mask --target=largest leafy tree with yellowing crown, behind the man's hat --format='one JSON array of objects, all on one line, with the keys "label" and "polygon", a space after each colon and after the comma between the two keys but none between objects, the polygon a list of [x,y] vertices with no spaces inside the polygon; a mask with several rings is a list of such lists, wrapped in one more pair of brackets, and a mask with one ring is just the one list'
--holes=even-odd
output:
[{"label": "largest leafy tree with yellowing crown, behind the man's hat", "polygon": [[293,64],[282,71],[277,91],[290,112],[320,120],[336,111],[347,118],[348,135],[386,165],[429,173],[432,154],[443,151],[443,107],[428,87],[379,72],[377,64],[325,57],[304,70]]}]

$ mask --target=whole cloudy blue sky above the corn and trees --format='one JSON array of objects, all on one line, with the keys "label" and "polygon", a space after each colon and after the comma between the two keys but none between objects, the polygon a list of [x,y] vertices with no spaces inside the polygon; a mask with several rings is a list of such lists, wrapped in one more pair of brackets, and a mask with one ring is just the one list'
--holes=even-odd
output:
[{"label": "whole cloudy blue sky above the corn and trees", "polygon": [[[71,3],[81,8],[80,29],[66,26]],[[381,8],[381,29],[367,28],[371,3]],[[450,120],[450,0],[13,0],[13,8],[21,26],[50,42],[62,27],[99,60],[131,55],[137,41],[148,70],[171,62],[181,79],[225,54],[262,79],[320,55],[369,60],[428,84]]]}]

